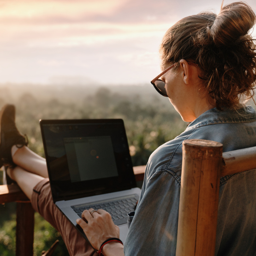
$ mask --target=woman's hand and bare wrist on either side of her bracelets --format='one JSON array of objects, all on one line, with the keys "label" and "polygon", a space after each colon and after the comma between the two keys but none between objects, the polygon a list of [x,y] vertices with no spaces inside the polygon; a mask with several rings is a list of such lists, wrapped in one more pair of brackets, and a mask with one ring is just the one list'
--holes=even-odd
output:
[{"label": "woman's hand and bare wrist on either side of her bracelets", "polygon": [[[108,238],[119,238],[119,227],[113,223],[111,215],[102,209],[94,211],[85,210],[82,219],[77,219],[77,224],[83,228],[91,245],[100,250],[101,244]],[[124,256],[124,246],[118,242],[105,244],[102,249],[104,256]]]}]

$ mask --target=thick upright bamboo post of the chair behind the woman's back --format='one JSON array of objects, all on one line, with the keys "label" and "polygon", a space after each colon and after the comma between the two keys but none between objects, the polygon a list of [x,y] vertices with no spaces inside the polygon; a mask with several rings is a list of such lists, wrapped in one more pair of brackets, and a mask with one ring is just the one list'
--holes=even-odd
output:
[{"label": "thick upright bamboo post of the chair behind the woman's back", "polygon": [[176,256],[214,256],[222,144],[185,140]]}]

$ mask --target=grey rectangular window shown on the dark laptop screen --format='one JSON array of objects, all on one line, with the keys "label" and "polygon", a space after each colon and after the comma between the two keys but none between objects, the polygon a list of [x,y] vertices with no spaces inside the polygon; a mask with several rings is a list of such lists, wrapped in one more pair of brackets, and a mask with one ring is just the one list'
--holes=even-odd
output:
[{"label": "grey rectangular window shown on the dark laptop screen", "polygon": [[118,176],[110,136],[64,138],[71,182]]}]

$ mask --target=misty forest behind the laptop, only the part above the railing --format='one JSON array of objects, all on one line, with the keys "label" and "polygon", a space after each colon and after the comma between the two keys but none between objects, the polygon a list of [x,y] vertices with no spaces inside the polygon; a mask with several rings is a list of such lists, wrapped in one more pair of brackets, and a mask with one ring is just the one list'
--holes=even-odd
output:
[{"label": "misty forest behind the laptop, only the part above the railing", "polygon": [[[166,98],[154,90],[152,94],[145,94],[144,91],[149,89],[143,86],[131,86],[130,91],[126,87],[125,94],[120,93],[121,88],[117,91],[116,88],[102,87],[92,95],[84,89],[75,88],[78,92],[80,90],[75,98],[64,96],[63,90],[60,95],[54,92],[54,96],[43,97],[45,93],[36,93],[35,89],[30,89],[30,92],[23,89],[18,94],[19,90],[14,88],[0,89],[5,95],[0,107],[6,102],[15,104],[17,126],[29,136],[30,149],[41,156],[44,156],[44,151],[39,119],[124,119],[134,166],[146,164],[157,147],[179,135],[186,127]],[[11,96],[13,94],[15,98]],[[66,94],[71,94],[70,89],[66,89]]]}]

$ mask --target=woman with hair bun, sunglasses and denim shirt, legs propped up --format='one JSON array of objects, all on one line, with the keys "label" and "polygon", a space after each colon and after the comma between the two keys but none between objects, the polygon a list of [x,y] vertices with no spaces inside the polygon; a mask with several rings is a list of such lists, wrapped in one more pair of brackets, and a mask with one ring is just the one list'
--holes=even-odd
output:
[{"label": "woman with hair bun, sunglasses and denim shirt, legs propped up", "polygon": [[[151,83],[191,124],[150,156],[136,212],[128,217],[132,221],[124,247],[107,212],[85,210],[77,220],[103,255],[175,255],[185,139],[217,141],[224,151],[256,146],[256,112],[241,104],[253,96],[256,81],[256,45],[248,34],[255,20],[250,6],[236,2],[221,7],[218,16],[202,12],[167,31],[160,48],[163,72]],[[14,108],[6,106],[1,113],[0,154],[3,164],[12,167],[8,175],[61,232],[71,255],[93,255],[55,208],[44,179],[45,160],[25,146],[14,123]],[[255,174],[247,171],[220,180],[215,255],[255,255]]]}]

